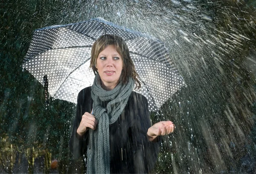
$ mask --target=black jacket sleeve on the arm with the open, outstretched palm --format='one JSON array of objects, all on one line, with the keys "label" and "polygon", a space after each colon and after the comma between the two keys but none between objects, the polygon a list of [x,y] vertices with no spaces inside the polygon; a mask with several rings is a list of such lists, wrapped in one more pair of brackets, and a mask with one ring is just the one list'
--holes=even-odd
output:
[{"label": "black jacket sleeve on the arm with the open, outstretched palm", "polygon": [[157,161],[160,138],[157,143],[148,140],[147,132],[151,127],[148,101],[144,96],[138,97],[138,100],[139,108],[134,108],[137,116],[132,128],[134,169],[136,173],[149,173]]}]

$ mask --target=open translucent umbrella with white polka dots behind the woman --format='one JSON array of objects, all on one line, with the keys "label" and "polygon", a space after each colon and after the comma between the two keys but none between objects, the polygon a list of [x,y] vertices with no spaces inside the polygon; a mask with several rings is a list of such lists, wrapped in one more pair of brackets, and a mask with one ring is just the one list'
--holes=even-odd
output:
[{"label": "open translucent umbrella with white polka dots behind the woman", "polygon": [[135,92],[148,99],[149,110],[158,110],[185,85],[161,41],[102,18],[35,30],[22,66],[47,84],[53,98],[76,103],[79,91],[93,84],[90,49],[103,34],[119,35],[126,42],[142,81]]}]

